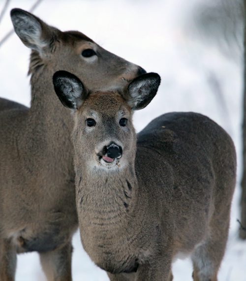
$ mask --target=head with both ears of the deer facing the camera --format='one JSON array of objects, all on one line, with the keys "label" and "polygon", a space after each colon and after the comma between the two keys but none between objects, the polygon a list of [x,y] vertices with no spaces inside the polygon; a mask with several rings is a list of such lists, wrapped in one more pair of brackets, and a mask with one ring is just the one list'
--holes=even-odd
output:
[{"label": "head with both ears of the deer facing the camera", "polygon": [[63,105],[76,110],[73,142],[81,165],[112,170],[134,163],[132,112],[153,99],[160,84],[158,74],[139,76],[122,94],[90,92],[75,75],[65,71],[56,72],[53,83]]}]

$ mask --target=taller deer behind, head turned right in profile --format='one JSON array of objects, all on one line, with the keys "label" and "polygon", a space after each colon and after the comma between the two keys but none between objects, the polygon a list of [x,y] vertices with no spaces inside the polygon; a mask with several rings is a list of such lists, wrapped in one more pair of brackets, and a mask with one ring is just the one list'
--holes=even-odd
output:
[{"label": "taller deer behind, head turned right in profile", "polygon": [[60,31],[15,8],[16,34],[31,49],[31,107],[0,99],[0,280],[15,279],[16,255],[39,253],[49,281],[71,281],[75,204],[73,119],[52,75],[75,73],[91,89],[121,89],[146,71],[79,31]]}]

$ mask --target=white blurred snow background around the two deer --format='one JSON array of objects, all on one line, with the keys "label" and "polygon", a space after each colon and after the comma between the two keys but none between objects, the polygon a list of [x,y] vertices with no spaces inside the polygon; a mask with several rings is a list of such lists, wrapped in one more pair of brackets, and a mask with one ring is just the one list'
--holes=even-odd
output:
[{"label": "white blurred snow background around the two deer", "polygon": [[[3,3],[0,0],[0,9]],[[28,10],[32,3],[12,0],[9,9]],[[238,56],[226,58],[215,44],[191,36],[187,26],[192,26],[191,12],[197,3],[202,0],[43,0],[34,13],[62,31],[82,31],[109,51],[161,75],[157,96],[135,114],[137,130],[165,112],[195,111],[208,115],[231,134],[238,153],[238,185],[219,281],[246,281],[246,242],[238,240],[236,222],[242,170],[242,63]],[[11,28],[6,14],[0,24],[0,39]],[[30,103],[29,53],[15,34],[0,48],[0,96],[26,105]],[[74,281],[108,280],[83,251],[78,233],[73,245]],[[191,272],[188,259],[173,265],[174,281],[191,281]],[[16,277],[17,281],[45,280],[36,253],[18,256]]]}]

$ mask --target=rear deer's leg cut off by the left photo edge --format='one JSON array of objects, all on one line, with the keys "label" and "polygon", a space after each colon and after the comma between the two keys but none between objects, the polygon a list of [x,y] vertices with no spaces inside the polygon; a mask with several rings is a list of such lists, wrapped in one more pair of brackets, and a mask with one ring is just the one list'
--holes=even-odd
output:
[{"label": "rear deer's leg cut off by the left photo edge", "polygon": [[14,281],[16,250],[10,240],[0,240],[0,281]]}]

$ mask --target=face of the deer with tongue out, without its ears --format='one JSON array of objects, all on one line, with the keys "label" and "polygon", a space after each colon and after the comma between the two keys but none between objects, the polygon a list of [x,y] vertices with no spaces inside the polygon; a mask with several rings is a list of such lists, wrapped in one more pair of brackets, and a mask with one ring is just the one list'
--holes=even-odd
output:
[{"label": "face of the deer with tongue out, without its ears", "polygon": [[76,113],[74,146],[91,168],[122,168],[133,158],[132,111],[116,93],[94,93]]}]

